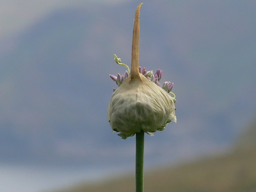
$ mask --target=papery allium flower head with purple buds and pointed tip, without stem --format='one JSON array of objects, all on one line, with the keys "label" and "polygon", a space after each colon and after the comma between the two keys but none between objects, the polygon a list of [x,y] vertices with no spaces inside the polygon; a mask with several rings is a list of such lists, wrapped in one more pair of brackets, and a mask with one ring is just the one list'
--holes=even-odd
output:
[{"label": "papery allium flower head with purple buds and pointed tip, without stem", "polygon": [[173,83],[165,82],[161,88],[162,70],[158,69],[154,74],[139,67],[140,5],[134,19],[131,71],[114,55],[115,61],[128,70],[124,76],[110,75],[119,87],[114,89],[108,106],[108,121],[112,130],[120,132],[118,135],[123,139],[141,130],[153,135],[153,132],[162,131],[170,121],[176,122],[176,100],[170,92]]}]

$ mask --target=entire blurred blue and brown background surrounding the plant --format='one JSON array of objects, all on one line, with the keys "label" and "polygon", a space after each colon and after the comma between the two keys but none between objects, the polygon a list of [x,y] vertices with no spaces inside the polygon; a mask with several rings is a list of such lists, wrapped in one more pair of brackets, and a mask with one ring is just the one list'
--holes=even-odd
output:
[{"label": "entire blurred blue and brown background surrounding the plant", "polygon": [[[106,111],[139,3],[1,2],[0,191],[134,191],[135,137],[113,134]],[[140,66],[163,70],[177,99],[177,123],[145,136],[145,190],[256,190],[255,10],[142,5]]]}]

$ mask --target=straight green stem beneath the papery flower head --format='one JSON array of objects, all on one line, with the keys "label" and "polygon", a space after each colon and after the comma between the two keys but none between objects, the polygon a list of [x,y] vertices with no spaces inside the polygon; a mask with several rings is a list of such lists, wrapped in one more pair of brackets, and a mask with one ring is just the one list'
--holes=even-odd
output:
[{"label": "straight green stem beneath the papery flower head", "polygon": [[136,133],[136,192],[143,192],[144,131]]}]

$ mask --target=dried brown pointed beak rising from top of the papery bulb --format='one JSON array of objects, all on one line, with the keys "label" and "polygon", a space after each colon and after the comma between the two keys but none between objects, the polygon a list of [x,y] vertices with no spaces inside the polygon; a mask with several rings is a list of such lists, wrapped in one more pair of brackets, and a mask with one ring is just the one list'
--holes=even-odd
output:
[{"label": "dried brown pointed beak rising from top of the papery bulb", "polygon": [[139,72],[139,36],[140,36],[140,8],[138,5],[133,25],[133,35],[132,35],[132,64],[131,64],[131,79],[134,77],[140,77]]}]

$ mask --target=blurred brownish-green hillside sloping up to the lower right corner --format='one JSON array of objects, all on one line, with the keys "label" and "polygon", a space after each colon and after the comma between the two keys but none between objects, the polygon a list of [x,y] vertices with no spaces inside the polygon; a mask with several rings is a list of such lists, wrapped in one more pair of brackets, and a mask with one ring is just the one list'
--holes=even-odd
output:
[{"label": "blurred brownish-green hillside sloping up to the lower right corner", "polygon": [[[252,129],[253,127],[253,129]],[[239,135],[243,150],[237,142],[232,151],[194,161],[179,163],[145,173],[145,191],[183,192],[254,192],[256,190],[255,122]],[[251,140],[252,139],[252,140]],[[244,142],[246,141],[246,142]],[[254,145],[252,145],[252,143]],[[123,174],[92,184],[79,184],[59,192],[135,191],[135,177]]]}]

